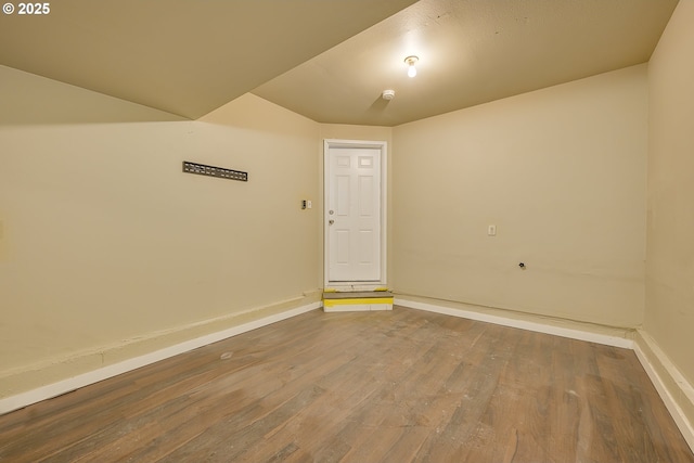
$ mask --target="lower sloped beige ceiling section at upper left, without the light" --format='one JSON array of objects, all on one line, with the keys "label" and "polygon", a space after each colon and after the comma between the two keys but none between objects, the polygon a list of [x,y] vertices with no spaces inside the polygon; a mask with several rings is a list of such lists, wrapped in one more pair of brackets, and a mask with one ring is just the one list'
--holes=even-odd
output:
[{"label": "lower sloped beige ceiling section at upper left, without the light", "polygon": [[414,1],[15,2],[0,64],[195,119]]}]

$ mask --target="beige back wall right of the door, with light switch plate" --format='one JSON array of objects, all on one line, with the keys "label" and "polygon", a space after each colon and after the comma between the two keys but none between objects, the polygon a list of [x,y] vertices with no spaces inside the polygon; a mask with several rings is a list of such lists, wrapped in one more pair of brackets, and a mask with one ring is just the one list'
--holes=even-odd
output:
[{"label": "beige back wall right of the door, with light switch plate", "polygon": [[645,65],[407,124],[393,137],[397,293],[641,323]]}]

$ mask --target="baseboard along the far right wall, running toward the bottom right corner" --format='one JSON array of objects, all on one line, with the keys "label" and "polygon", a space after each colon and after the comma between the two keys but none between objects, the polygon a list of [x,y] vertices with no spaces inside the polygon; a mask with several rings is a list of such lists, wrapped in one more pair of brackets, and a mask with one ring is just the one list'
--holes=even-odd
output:
[{"label": "baseboard along the far right wall, running toward the bottom right corner", "polygon": [[[657,389],[663,402],[665,402],[665,407],[670,412],[670,415],[672,415],[672,420],[677,423],[677,427],[679,427],[682,433],[684,440],[686,440],[686,443],[689,443],[694,452],[694,425],[687,419],[684,410],[682,410],[682,406],[694,410],[694,386],[686,381],[684,375],[674,366],[648,334],[639,331],[633,350],[651,378],[651,382]],[[667,375],[667,377],[664,378],[658,371]],[[674,391],[671,389],[674,389]],[[676,399],[676,396],[679,400]]]}]

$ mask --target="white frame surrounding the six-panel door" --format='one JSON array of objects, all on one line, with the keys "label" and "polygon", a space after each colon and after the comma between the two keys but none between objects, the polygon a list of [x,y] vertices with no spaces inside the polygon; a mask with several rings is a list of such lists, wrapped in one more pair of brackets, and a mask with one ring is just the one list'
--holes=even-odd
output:
[{"label": "white frame surrounding the six-panel door", "polygon": [[[330,150],[334,147],[367,147],[377,149],[381,151],[381,275],[378,281],[354,281],[354,282],[331,282],[329,280],[330,272],[330,243],[329,243],[329,224],[327,224],[327,207],[330,204]],[[368,140],[323,140],[323,287],[338,291],[373,291],[386,287],[387,285],[387,192],[388,192],[388,143],[385,141],[368,141]]]}]

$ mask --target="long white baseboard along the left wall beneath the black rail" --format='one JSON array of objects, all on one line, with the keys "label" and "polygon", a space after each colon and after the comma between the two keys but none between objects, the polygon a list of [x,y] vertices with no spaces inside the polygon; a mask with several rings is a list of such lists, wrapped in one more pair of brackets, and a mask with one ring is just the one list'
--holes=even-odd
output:
[{"label": "long white baseboard along the left wall beneath the black rail", "polygon": [[126,373],[131,370],[158,362],[159,360],[168,359],[169,357],[178,356],[179,353],[184,353],[198,347],[206,346],[208,344],[213,344],[228,337],[236,336],[241,333],[256,330],[258,327],[266,326],[282,320],[286,320],[288,318],[296,317],[301,313],[319,309],[321,307],[322,304],[320,301],[311,303],[301,307],[297,307],[295,309],[286,310],[281,313],[275,313],[258,320],[232,326],[228,330],[222,330],[217,333],[176,344],[164,349],[145,353],[144,356],[134,357],[132,359],[103,366],[77,376],[69,377],[67,380],[37,387],[36,389],[28,390],[26,393],[5,397],[3,399],[0,399],[0,414],[18,410],[21,408],[30,406],[31,403],[40,402],[41,400],[51,399],[53,397],[69,393],[80,387],[89,386],[90,384],[117,376],[121,373]]}]

